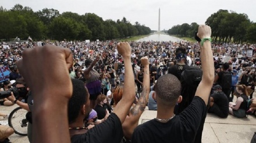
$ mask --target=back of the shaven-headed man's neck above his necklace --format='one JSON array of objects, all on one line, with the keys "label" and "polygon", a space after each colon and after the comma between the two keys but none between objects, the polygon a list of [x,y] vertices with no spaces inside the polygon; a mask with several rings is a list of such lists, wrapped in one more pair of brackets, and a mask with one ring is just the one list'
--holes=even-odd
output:
[{"label": "back of the shaven-headed man's neck above his necklace", "polygon": [[169,119],[174,115],[174,107],[159,106],[157,107],[158,119]]}]

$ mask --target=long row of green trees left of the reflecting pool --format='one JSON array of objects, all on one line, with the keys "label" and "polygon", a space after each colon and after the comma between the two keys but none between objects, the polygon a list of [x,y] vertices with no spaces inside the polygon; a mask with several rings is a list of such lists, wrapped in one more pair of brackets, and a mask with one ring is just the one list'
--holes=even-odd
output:
[{"label": "long row of green trees left of the reflecting pool", "polygon": [[54,39],[96,41],[126,38],[136,35],[147,35],[151,29],[136,21],[131,24],[122,20],[103,20],[94,13],[77,14],[59,13],[56,9],[42,9],[34,12],[31,8],[16,4],[12,9],[0,7],[0,39],[9,41],[18,36],[35,40]]}]

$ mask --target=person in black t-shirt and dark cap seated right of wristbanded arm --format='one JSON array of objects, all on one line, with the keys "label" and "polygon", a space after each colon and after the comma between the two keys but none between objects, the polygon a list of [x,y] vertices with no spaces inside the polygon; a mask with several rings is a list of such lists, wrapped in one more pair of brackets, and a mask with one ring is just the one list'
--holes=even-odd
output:
[{"label": "person in black t-shirt and dark cap seated right of wristbanded arm", "polygon": [[220,118],[227,118],[229,115],[229,100],[226,94],[223,93],[220,85],[216,85],[212,89],[214,93],[210,97],[208,113],[215,113]]}]

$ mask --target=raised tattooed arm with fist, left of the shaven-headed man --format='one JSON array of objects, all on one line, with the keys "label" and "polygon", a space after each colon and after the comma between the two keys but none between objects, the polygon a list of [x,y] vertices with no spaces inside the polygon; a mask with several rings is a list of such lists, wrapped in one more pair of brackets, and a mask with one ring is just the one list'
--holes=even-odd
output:
[{"label": "raised tattooed arm with fist, left of the shaven-headed man", "polygon": [[148,95],[150,94],[150,65],[148,63],[148,58],[141,58],[141,63],[144,66],[143,90],[140,98],[138,98],[137,104],[130,110],[129,116],[122,124],[123,134],[127,139],[131,139],[134,129],[138,126],[138,120],[140,119],[141,114],[144,112],[148,102]]}]

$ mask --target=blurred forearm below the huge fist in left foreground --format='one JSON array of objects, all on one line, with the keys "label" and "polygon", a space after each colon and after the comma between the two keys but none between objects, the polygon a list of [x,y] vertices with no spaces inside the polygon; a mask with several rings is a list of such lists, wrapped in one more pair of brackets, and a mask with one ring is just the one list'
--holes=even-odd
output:
[{"label": "blurred forearm below the huge fist in left foreground", "polygon": [[[59,95],[58,95],[59,97]],[[70,142],[67,120],[67,98],[38,101],[33,107],[33,142]],[[41,102],[41,103],[39,103]],[[47,138],[45,138],[47,137]]]}]

